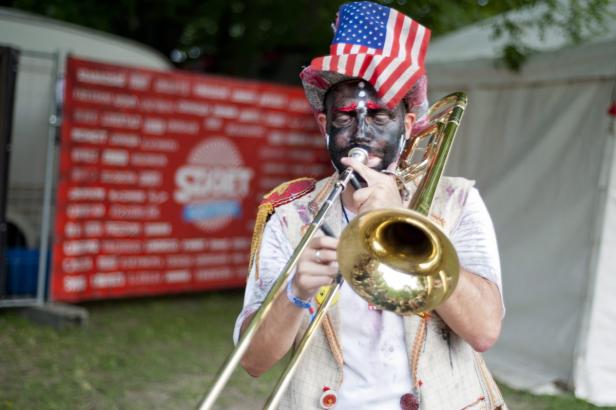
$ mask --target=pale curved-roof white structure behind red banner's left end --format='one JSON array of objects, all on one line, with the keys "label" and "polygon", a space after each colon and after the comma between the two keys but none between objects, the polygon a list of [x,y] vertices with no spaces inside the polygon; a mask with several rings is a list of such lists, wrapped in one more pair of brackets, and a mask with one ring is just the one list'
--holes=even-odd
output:
[{"label": "pale curved-roof white structure behind red banner's left end", "polygon": [[163,70],[171,63],[135,41],[4,7],[0,7],[0,45],[20,50],[7,219],[34,247],[40,239],[55,71],[62,76],[66,56]]}]

